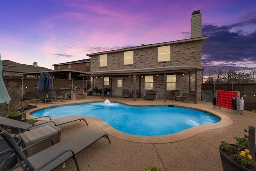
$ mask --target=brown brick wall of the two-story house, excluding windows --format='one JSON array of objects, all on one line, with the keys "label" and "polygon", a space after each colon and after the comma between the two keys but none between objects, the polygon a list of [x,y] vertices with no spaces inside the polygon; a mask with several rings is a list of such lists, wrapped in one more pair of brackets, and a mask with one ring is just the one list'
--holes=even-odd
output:
[{"label": "brown brick wall of the two-story house, excluding windows", "polygon": [[[139,68],[156,68],[167,66],[190,66],[194,68],[201,68],[201,41],[188,41],[182,43],[170,44],[171,46],[171,60],[170,62],[158,62],[158,46],[149,48],[140,48],[134,50],[134,64],[124,65],[124,52],[114,52],[108,54],[108,66],[99,67],[99,55],[91,56],[91,70],[95,71],[107,71],[107,70],[129,70]],[[139,76],[136,78],[136,88],[139,89]],[[189,75],[177,75],[176,76],[176,89],[181,92],[188,92]],[[111,95],[114,96],[115,78],[112,79]],[[124,77],[123,88],[133,89],[133,78]],[[191,79],[191,91],[194,91],[194,82],[197,80],[197,99],[201,99],[201,73],[197,73],[197,78]],[[91,82],[92,83],[92,82]],[[91,85],[92,86],[92,85]],[[94,87],[102,87],[102,78],[94,79]],[[110,85],[104,86],[111,87]],[[153,76],[153,89],[158,91],[158,97],[164,98],[164,78],[160,79],[158,76]],[[143,96],[144,89],[144,77],[141,77],[141,95]]]}]

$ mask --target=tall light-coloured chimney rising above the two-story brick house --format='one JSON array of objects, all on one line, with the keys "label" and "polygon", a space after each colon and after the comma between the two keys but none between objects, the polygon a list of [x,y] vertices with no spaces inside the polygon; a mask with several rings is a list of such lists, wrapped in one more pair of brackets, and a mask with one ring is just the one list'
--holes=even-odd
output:
[{"label": "tall light-coloured chimney rising above the two-story brick house", "polygon": [[191,38],[202,37],[202,14],[200,10],[192,13],[191,22]]}]

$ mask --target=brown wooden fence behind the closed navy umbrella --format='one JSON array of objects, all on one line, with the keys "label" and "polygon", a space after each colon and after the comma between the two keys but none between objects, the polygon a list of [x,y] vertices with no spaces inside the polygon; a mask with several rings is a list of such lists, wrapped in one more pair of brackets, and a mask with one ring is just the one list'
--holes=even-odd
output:
[{"label": "brown wooden fence behind the closed navy umbrella", "polygon": [[[35,78],[29,78],[29,79],[8,79],[5,78],[4,82],[7,85],[8,82],[17,82],[20,83],[20,85],[23,85],[24,87],[24,97],[26,99],[30,99],[36,96],[34,91],[41,91],[37,89],[38,80]],[[83,87],[83,81],[82,80],[62,80],[62,79],[53,79],[51,80],[53,85],[53,90],[56,92],[63,92],[63,91],[70,91],[72,89],[84,89],[84,91],[87,91],[87,89],[90,88],[90,81],[84,80],[84,87]],[[8,87],[6,87],[8,89]],[[46,93],[46,91],[45,91]],[[22,98],[23,99],[23,98]]]}]

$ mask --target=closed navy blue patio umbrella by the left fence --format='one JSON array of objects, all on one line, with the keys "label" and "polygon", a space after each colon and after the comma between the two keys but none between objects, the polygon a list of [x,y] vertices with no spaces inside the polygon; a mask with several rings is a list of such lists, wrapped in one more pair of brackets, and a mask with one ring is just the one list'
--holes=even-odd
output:
[{"label": "closed navy blue patio umbrella by the left fence", "polygon": [[52,89],[51,78],[48,72],[40,73],[37,89],[46,90],[46,97],[48,97],[47,90]]}]

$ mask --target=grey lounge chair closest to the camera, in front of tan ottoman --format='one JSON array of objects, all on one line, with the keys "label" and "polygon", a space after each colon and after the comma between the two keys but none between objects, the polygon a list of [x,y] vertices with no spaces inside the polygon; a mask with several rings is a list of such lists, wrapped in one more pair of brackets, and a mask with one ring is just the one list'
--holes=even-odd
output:
[{"label": "grey lounge chair closest to the camera, in front of tan ottoman", "polygon": [[[40,171],[50,171],[54,170],[60,165],[64,164],[69,159],[73,158],[76,163],[76,169],[79,171],[78,162],[76,155],[101,139],[105,137],[110,143],[110,139],[107,134],[86,129],[81,131],[76,135],[60,141],[30,157],[26,157],[23,153],[24,150],[41,143],[42,141],[51,141],[50,139],[43,139],[38,141],[24,149],[20,149],[12,135],[0,128],[0,135],[8,143],[11,150],[18,156],[19,165],[14,168],[21,167],[24,170],[40,170]],[[14,169],[12,168],[12,169]],[[1,169],[1,168],[0,168]]]}]

